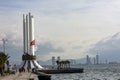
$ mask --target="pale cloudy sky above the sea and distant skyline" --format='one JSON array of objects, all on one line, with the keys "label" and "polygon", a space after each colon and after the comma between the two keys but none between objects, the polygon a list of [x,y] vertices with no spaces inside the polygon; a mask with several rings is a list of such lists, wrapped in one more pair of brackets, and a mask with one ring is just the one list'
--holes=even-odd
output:
[{"label": "pale cloudy sky above the sea and distant skyline", "polygon": [[[0,0],[0,39],[7,40],[6,53],[13,61],[21,61],[22,16],[29,12],[35,19],[38,60],[95,56],[101,45],[108,50],[102,49],[99,55],[110,55],[112,59],[119,53],[117,48],[114,54],[109,43],[117,43],[113,36],[119,36],[120,0]],[[3,51],[2,41],[0,50]]]}]

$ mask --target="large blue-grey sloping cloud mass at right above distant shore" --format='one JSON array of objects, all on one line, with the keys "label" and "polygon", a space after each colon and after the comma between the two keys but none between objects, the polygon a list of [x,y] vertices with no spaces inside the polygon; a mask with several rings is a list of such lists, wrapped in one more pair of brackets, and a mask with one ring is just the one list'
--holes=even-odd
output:
[{"label": "large blue-grey sloping cloud mass at right above distant shore", "polygon": [[120,33],[102,39],[88,53],[92,55],[100,55],[101,60],[108,59],[109,61],[119,61],[120,56]]}]

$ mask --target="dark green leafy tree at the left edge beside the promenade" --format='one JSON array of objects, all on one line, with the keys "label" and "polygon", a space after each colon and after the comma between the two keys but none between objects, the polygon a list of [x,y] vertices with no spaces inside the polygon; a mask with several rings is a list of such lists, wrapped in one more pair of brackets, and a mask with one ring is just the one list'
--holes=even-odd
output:
[{"label": "dark green leafy tree at the left edge beside the promenade", "polygon": [[4,72],[4,65],[8,61],[9,56],[6,55],[4,52],[0,52],[0,73],[1,75]]}]

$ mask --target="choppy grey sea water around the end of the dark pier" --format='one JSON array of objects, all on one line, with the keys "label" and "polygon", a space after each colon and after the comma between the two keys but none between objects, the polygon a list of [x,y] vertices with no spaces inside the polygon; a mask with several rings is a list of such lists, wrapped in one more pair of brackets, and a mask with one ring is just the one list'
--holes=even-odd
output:
[{"label": "choppy grey sea water around the end of the dark pier", "polygon": [[120,80],[120,64],[76,65],[84,73],[52,74],[51,80]]}]

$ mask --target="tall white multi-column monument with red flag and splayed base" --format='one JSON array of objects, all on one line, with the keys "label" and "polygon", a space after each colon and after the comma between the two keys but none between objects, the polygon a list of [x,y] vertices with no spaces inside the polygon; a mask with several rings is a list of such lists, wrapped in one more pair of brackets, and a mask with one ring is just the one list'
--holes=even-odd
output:
[{"label": "tall white multi-column monument with red flag and splayed base", "polygon": [[26,17],[23,14],[23,52],[23,62],[20,65],[20,68],[25,67],[26,65],[29,68],[43,69],[43,67],[36,61],[34,18],[30,13],[29,15],[26,15]]}]

